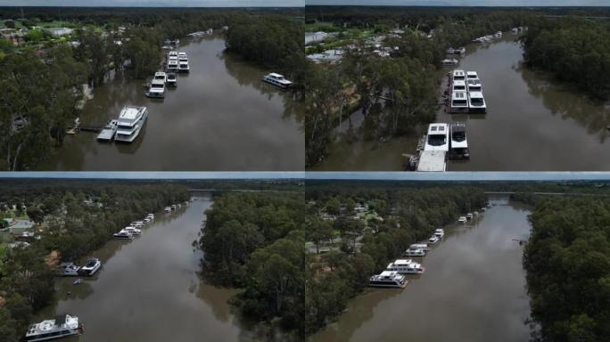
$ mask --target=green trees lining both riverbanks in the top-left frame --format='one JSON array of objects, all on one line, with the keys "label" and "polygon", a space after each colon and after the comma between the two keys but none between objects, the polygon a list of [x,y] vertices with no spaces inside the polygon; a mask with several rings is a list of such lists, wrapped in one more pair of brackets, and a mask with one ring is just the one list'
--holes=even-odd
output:
[{"label": "green trees lining both riverbanks in the top-left frame", "polygon": [[[227,37],[233,52],[296,82],[307,64],[302,21],[295,19],[300,12],[293,9],[29,8],[25,13],[0,8],[4,25],[15,27],[0,37],[4,170],[36,169],[54,147],[61,147],[94,87],[111,77],[151,77],[161,67],[166,39],[186,39],[188,33],[212,28]],[[51,31],[55,24],[67,28]]]}]

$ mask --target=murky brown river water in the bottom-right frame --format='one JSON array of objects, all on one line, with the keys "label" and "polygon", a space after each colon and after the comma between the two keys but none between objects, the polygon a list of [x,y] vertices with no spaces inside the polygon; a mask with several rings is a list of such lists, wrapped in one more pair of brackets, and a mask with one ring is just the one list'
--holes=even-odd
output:
[{"label": "murky brown river water in the bottom-right frame", "polygon": [[531,328],[522,266],[529,211],[507,199],[471,225],[446,227],[405,289],[367,289],[311,340],[526,341]]}]

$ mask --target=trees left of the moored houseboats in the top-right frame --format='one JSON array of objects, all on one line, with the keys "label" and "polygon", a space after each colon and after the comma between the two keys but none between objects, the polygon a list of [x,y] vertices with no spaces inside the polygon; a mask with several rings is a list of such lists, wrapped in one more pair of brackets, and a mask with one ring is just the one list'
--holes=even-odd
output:
[{"label": "trees left of the moored houseboats in the top-right frame", "polygon": [[[303,85],[306,164],[326,158],[334,126],[350,120],[357,109],[365,116],[358,132],[365,140],[419,134],[435,119],[445,50],[522,26],[535,15],[514,9],[306,8],[308,22],[331,22],[331,30],[358,28],[383,35],[393,28],[405,31],[386,39],[384,45],[392,47],[390,57],[364,53],[372,48],[355,39],[341,62],[309,66]],[[354,98],[355,107],[349,105]]]}]

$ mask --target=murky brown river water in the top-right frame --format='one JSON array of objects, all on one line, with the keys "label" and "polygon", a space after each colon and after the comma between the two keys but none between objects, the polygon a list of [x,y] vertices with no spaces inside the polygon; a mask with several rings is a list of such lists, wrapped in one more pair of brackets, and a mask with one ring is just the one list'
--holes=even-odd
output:
[{"label": "murky brown river water in the top-right frame", "polygon": [[[469,45],[457,69],[477,71],[486,115],[438,112],[438,122],[464,121],[471,159],[449,171],[602,171],[610,169],[610,106],[580,89],[523,66],[523,50],[507,34],[490,45]],[[446,81],[443,82],[443,90]],[[356,113],[354,115],[361,114]],[[352,116],[352,122],[361,119]],[[416,137],[367,142],[340,138],[312,170],[400,170]]]}]

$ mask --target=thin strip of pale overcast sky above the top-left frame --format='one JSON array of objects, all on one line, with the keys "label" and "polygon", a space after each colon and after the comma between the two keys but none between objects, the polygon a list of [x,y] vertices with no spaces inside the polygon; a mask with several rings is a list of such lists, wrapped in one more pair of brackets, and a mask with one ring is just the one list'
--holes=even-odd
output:
[{"label": "thin strip of pale overcast sky above the top-left frame", "polygon": [[302,7],[303,0],[0,0],[0,6]]}]

